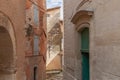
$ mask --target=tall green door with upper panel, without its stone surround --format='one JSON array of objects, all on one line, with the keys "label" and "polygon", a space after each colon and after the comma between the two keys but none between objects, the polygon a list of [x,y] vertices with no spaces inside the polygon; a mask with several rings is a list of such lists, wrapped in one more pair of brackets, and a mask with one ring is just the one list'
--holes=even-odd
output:
[{"label": "tall green door with upper panel, without its stone surround", "polygon": [[89,28],[81,31],[82,80],[89,79]]}]

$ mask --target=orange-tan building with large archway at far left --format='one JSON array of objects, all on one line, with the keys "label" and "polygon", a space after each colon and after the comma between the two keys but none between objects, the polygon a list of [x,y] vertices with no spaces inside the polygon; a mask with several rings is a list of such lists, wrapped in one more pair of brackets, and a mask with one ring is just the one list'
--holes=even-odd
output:
[{"label": "orange-tan building with large archway at far left", "polygon": [[0,80],[26,80],[25,0],[0,0]]}]

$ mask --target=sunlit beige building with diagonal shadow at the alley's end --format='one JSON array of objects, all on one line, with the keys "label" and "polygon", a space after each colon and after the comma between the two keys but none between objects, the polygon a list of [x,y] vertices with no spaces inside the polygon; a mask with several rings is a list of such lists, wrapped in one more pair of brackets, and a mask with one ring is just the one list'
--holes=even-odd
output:
[{"label": "sunlit beige building with diagonal shadow at the alley's end", "polygon": [[63,23],[60,20],[60,7],[47,9],[47,73],[60,72],[62,70],[62,39]]}]

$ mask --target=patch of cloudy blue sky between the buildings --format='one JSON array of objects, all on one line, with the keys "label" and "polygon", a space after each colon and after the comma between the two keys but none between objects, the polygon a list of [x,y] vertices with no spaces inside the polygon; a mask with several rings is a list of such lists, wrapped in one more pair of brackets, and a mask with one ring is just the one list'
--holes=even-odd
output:
[{"label": "patch of cloudy blue sky between the buildings", "polygon": [[62,0],[47,0],[47,8],[62,6]]}]

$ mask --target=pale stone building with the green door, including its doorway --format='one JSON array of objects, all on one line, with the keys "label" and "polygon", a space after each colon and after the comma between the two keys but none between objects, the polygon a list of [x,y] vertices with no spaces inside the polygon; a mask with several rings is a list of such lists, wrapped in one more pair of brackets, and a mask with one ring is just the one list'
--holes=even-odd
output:
[{"label": "pale stone building with the green door, including its doorway", "polygon": [[120,80],[119,3],[64,0],[63,80]]}]

